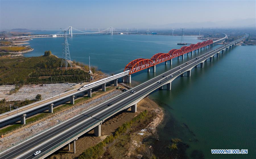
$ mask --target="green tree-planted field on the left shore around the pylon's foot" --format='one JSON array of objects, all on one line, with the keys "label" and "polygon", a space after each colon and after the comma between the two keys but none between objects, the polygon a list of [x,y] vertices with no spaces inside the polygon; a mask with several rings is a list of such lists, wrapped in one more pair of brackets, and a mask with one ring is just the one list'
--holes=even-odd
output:
[{"label": "green tree-planted field on the left shore around the pylon's foot", "polygon": [[61,59],[51,56],[18,57],[0,59],[0,85],[76,83],[89,81],[90,74],[84,70],[60,69]]}]

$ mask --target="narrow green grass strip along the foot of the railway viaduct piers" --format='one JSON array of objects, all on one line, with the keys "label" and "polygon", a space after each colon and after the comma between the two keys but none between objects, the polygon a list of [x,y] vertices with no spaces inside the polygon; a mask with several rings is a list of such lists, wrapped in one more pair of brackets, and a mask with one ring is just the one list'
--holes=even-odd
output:
[{"label": "narrow green grass strip along the foot of the railway viaduct piers", "polygon": [[[112,86],[112,87],[107,87],[107,88],[106,88],[106,92],[111,91],[111,90],[113,90],[113,89],[115,89],[115,88],[116,88],[116,87],[113,87],[113,86]],[[103,94],[103,93],[106,93],[106,92],[102,92],[102,91],[95,92],[95,93],[92,94],[92,97],[98,96],[98,95]],[[86,100],[89,100],[89,99],[90,99],[89,97],[84,96],[84,97],[82,97],[82,98],[79,98],[79,99],[75,100],[75,104],[82,104],[83,102],[85,102]],[[65,110],[65,109],[67,109],[67,108],[70,108],[70,107],[72,107],[72,106],[74,106],[74,105],[73,105],[73,104],[63,104],[62,106],[59,106],[59,107],[57,107],[57,108],[54,108],[54,109],[53,109],[53,113],[58,113],[58,112],[60,112],[60,111],[62,111],[62,110]],[[43,119],[43,118],[45,118],[45,117],[48,117],[48,116],[50,116],[50,115],[52,115],[52,113],[48,113],[48,112],[47,112],[47,113],[38,114],[38,115],[36,115],[36,116],[34,116],[34,117],[31,117],[31,118],[29,118],[29,119],[26,119],[26,125],[27,125],[27,124],[34,123],[34,122],[36,122],[36,121],[38,121],[38,120],[41,120],[41,119]],[[1,129],[1,130],[0,130],[0,135],[1,135],[1,134],[7,134],[7,133],[12,132],[12,131],[14,131],[14,130],[16,130],[16,129],[19,129],[19,128],[23,127],[23,126],[25,126],[25,125],[13,124],[13,125],[11,125],[11,126],[8,126],[8,127],[6,127],[6,128]]]}]

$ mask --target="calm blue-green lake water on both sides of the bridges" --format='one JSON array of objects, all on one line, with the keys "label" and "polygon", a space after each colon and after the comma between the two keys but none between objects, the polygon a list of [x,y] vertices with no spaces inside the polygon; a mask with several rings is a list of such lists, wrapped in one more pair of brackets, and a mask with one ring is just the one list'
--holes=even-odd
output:
[{"label": "calm blue-green lake water on both sides of the bridges", "polygon": [[[151,58],[155,53],[181,48],[178,36],[102,35],[77,36],[68,39],[71,59],[97,66],[103,72],[120,70],[131,60]],[[194,36],[185,36],[187,43],[197,43]],[[40,56],[51,50],[62,56],[63,38],[35,38],[30,41],[34,51],[26,57]],[[216,48],[218,46],[214,46]],[[236,46],[221,54],[204,68],[195,68],[191,77],[179,77],[172,82],[172,90],[157,90],[149,97],[164,108],[165,117],[158,126],[160,141],[146,141],[153,145],[159,158],[171,158],[167,146],[172,138],[180,138],[186,145],[178,145],[177,158],[255,158],[255,46]],[[193,57],[197,56],[194,54]],[[132,74],[132,85],[144,82],[166,70],[190,60],[173,59],[173,65],[160,64],[156,73],[146,70]],[[248,154],[211,154],[211,149],[248,149]],[[191,155],[191,154],[194,154]]]}]

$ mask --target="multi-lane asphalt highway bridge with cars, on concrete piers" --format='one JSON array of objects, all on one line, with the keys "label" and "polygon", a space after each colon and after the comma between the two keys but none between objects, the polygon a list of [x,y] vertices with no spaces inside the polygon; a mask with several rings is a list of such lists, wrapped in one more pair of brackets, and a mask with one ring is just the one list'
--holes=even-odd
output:
[{"label": "multi-lane asphalt highway bridge with cars, on concrete piers", "polygon": [[[200,65],[203,68],[203,63],[212,58],[214,55],[224,53],[235,46],[243,38],[237,39],[226,45],[210,50],[187,63],[183,63],[155,78],[152,78],[137,87],[131,89],[136,91],[131,93],[130,91],[124,92],[94,108],[87,110],[86,112],[77,115],[37,136],[34,136],[10,149],[0,153],[0,159],[6,158],[46,158],[53,152],[61,149],[64,146],[69,145],[71,142],[74,144],[75,153],[75,141],[78,137],[94,128],[94,134],[100,136],[101,124],[114,114],[130,108],[132,112],[136,112],[137,103],[152,91],[167,85],[167,89],[171,90],[171,83],[179,76],[191,76],[191,69]],[[109,103],[112,103],[109,106]],[[69,145],[70,146],[70,145]],[[41,151],[37,156],[33,156],[35,151]]]}]

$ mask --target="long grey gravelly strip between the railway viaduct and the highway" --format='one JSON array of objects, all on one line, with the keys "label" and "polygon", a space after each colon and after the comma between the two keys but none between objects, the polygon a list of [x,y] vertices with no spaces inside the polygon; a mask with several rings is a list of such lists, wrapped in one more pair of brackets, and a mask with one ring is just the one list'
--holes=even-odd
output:
[{"label": "long grey gravelly strip between the railway viaduct and the highway", "polygon": [[35,136],[36,134],[39,134],[40,132],[43,132],[59,123],[62,123],[63,121],[66,121],[76,115],[79,115],[82,112],[84,112],[86,109],[92,108],[110,98],[113,98],[118,94],[121,94],[121,91],[113,89],[111,91],[108,91],[106,93],[103,93],[99,96],[95,96],[87,100],[84,104],[80,104],[80,105],[75,104],[71,108],[65,109],[58,113],[54,113],[49,117],[41,119],[32,124],[28,124],[18,130],[15,130],[9,134],[6,134],[3,138],[0,138],[1,151],[7,149],[8,147],[16,145],[24,141],[25,139]]}]

